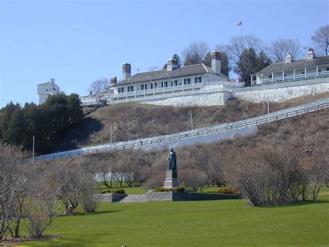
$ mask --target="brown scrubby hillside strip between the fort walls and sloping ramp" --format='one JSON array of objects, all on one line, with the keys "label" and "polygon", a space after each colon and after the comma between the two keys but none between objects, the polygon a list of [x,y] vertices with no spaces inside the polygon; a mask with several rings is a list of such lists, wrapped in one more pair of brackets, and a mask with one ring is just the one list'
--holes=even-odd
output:
[{"label": "brown scrubby hillside strip between the fort walls and sloping ramp", "polygon": [[[270,104],[270,111],[278,111],[324,97],[329,97],[329,93],[273,103]],[[255,104],[232,99],[224,106],[173,107],[142,104],[105,106],[64,133],[61,136],[60,148],[53,151],[110,143],[111,129],[112,142],[183,132],[191,128],[190,111],[193,127],[196,129],[266,114],[267,103]]]}]

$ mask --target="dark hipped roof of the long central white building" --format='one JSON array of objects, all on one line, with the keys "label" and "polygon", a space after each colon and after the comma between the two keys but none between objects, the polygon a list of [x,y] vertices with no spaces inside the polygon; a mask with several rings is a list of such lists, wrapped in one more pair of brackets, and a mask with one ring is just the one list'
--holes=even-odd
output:
[{"label": "dark hipped roof of the long central white building", "polygon": [[[175,70],[167,71],[167,70],[155,70],[150,72],[142,72],[134,74],[133,76],[129,77],[128,79],[124,79],[120,81],[119,83],[112,85],[112,86],[121,86],[126,85],[130,83],[140,83],[145,81],[157,81],[157,80],[169,80],[169,77],[171,79],[177,78],[177,77],[189,77],[196,74],[205,74],[207,72],[210,72],[212,74],[215,74],[212,72],[212,69],[208,67],[207,65],[204,65],[203,63],[195,64],[195,65],[187,65],[184,67],[180,67]],[[223,77],[223,74],[219,74]],[[148,76],[148,77],[146,77]]]}]

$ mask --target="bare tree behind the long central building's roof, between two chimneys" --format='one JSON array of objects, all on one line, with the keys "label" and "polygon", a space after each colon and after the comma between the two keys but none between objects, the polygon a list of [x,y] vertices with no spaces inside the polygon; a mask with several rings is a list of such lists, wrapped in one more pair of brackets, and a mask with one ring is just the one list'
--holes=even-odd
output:
[{"label": "bare tree behind the long central building's roof, between two chimneys", "polygon": [[194,41],[182,51],[184,65],[204,63],[210,48],[205,41]]}]

